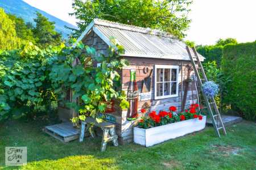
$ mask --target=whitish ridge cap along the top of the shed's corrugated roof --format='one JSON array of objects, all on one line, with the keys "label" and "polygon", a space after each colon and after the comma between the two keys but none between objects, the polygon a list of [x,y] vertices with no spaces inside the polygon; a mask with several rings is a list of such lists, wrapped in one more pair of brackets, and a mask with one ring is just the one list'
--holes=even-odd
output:
[{"label": "whitish ridge cap along the top of the shed's corrugated roof", "polygon": [[93,20],[93,22],[96,25],[104,25],[106,27],[113,27],[113,28],[125,29],[128,31],[135,31],[135,32],[147,33],[147,34],[151,34],[151,35],[158,35],[158,36],[174,38],[174,36],[172,36],[170,33],[160,31],[159,29],[138,27],[135,25],[122,24],[122,23],[112,22],[109,20],[98,19],[98,18],[95,18]]}]

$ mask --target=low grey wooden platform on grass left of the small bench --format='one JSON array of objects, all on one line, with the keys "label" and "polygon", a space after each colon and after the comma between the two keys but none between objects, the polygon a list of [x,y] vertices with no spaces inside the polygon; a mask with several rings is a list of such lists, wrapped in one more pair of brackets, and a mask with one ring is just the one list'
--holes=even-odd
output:
[{"label": "low grey wooden platform on grass left of the small bench", "polygon": [[69,142],[79,138],[79,129],[73,128],[71,122],[46,126],[44,131],[61,142]]}]

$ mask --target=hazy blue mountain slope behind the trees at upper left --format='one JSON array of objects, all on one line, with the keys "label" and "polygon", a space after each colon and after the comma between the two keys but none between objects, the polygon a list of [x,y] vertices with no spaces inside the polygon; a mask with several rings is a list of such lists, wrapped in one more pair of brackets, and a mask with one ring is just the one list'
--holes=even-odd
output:
[{"label": "hazy blue mountain slope behind the trees at upper left", "polygon": [[38,11],[46,16],[46,18],[48,18],[51,22],[55,22],[56,31],[62,33],[64,38],[67,38],[68,34],[71,33],[71,30],[65,28],[64,26],[77,28],[75,25],[64,22],[63,20],[56,18],[47,12],[32,7],[22,0],[0,0],[0,7],[5,9],[6,13],[15,14],[16,16],[23,18],[25,22],[32,23],[34,23],[33,19],[36,18],[35,12]]}]

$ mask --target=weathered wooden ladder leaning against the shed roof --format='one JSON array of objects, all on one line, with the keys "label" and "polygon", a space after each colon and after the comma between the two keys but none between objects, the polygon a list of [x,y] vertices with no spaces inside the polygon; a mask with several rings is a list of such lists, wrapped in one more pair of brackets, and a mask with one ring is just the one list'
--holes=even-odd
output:
[{"label": "weathered wooden ladder leaning against the shed roof", "polygon": [[[221,115],[220,115],[220,112],[218,111],[218,108],[217,108],[217,105],[216,105],[216,101],[214,100],[214,97],[209,98],[203,92],[203,83],[208,82],[208,80],[207,80],[207,76],[205,75],[204,68],[203,68],[203,66],[200,62],[200,59],[199,59],[198,55],[197,55],[196,48],[195,47],[192,48],[193,53],[195,54],[195,57],[192,56],[191,50],[188,46],[186,47],[186,49],[187,49],[187,52],[188,52],[188,56],[191,59],[193,70],[195,71],[197,81],[199,82],[199,87],[200,87],[200,90],[203,94],[205,104],[207,105],[208,112],[210,114],[210,117],[212,118],[213,127],[214,127],[218,137],[221,137],[220,130],[223,130],[224,134],[226,135],[226,129],[225,129],[224,124],[222,122]],[[199,67],[198,69],[196,67],[196,63],[195,63],[194,59],[196,59],[196,61],[197,61],[197,64],[198,64],[198,67]],[[200,77],[199,70],[200,70],[200,73],[203,76],[203,78]],[[213,111],[214,111],[215,114],[213,113]]]}]

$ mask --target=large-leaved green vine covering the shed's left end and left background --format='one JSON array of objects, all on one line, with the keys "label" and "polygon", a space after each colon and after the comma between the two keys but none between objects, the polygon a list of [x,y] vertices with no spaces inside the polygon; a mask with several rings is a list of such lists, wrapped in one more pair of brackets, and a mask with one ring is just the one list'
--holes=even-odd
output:
[{"label": "large-leaved green vine covering the shed's left end and left background", "polygon": [[[69,88],[73,99],[80,96],[82,101],[65,104],[82,114],[104,112],[110,99],[127,107],[126,95],[118,88],[118,70],[127,62],[119,57],[122,46],[112,42],[109,56],[83,44],[41,50],[29,43],[21,50],[0,53],[0,120],[30,114],[40,106],[49,110],[51,101],[63,101]],[[77,59],[81,64],[73,66]],[[100,67],[93,67],[96,61]]]}]

